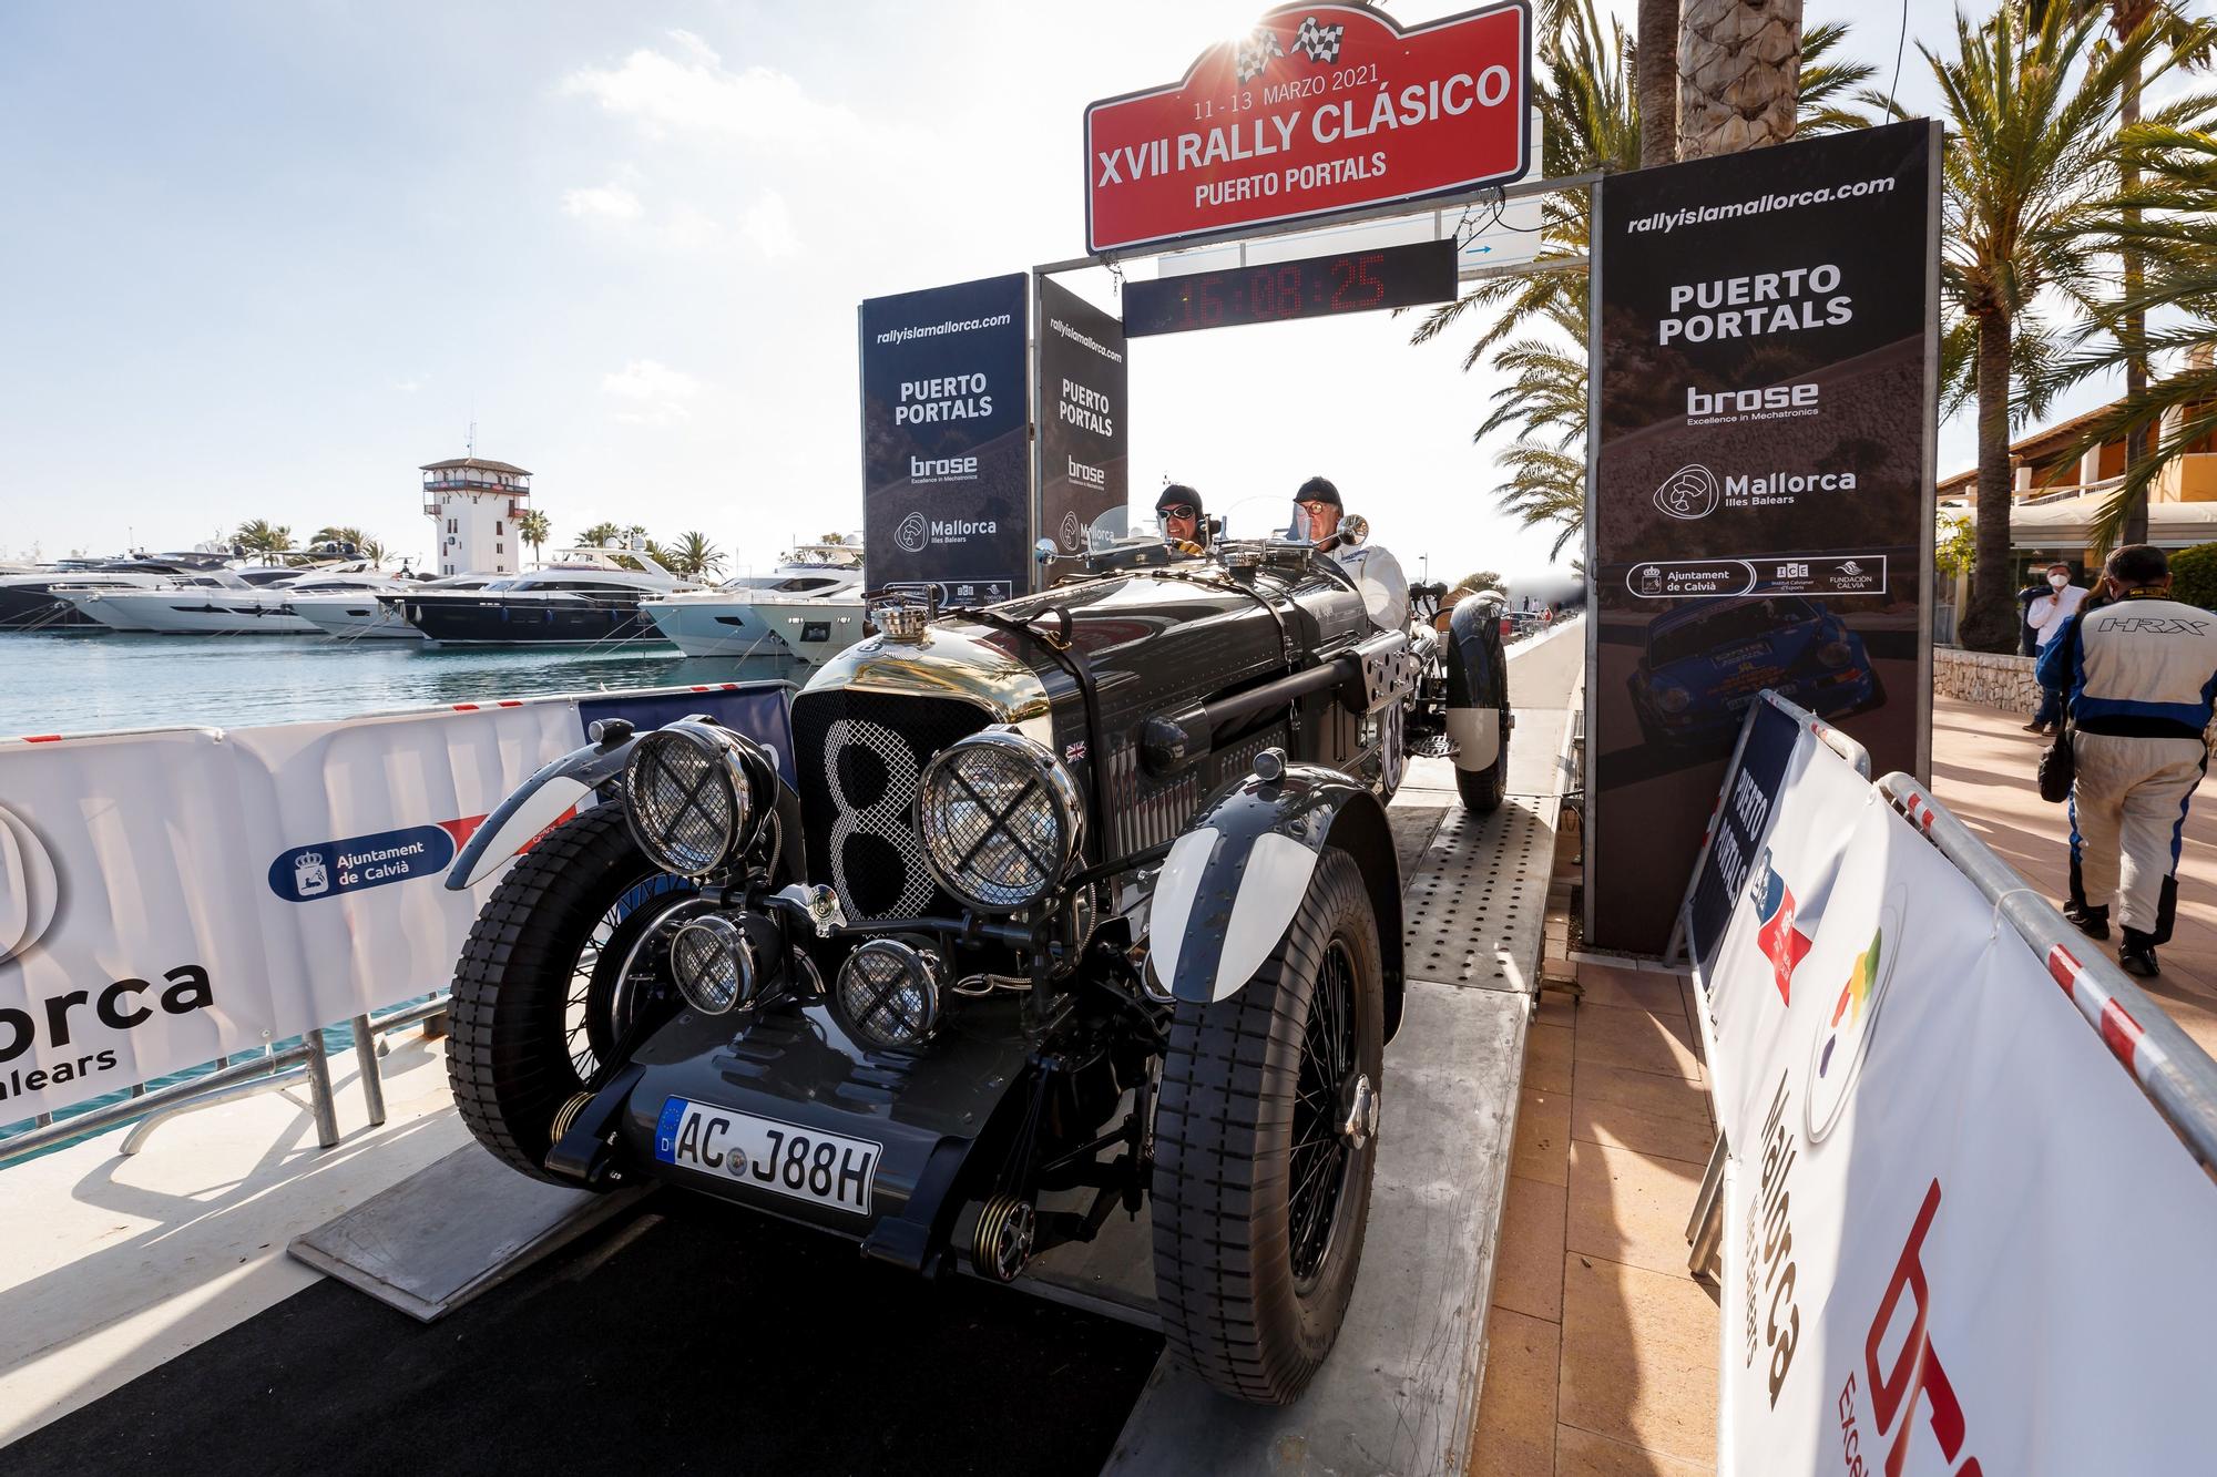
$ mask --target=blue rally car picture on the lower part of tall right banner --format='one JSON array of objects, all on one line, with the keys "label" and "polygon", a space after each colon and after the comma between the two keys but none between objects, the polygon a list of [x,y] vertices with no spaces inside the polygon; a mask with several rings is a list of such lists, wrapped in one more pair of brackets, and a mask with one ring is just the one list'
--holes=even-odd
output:
[{"label": "blue rally car picture on the lower part of tall right banner", "polygon": [[1716,741],[1765,687],[1820,719],[1878,707],[1887,690],[1862,636],[1798,594],[1696,601],[1647,625],[1632,679],[1647,743]]}]

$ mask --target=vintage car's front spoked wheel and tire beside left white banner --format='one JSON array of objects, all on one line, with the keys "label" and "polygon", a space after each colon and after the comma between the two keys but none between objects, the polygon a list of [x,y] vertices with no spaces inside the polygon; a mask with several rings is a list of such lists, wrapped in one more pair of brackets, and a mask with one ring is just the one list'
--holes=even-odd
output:
[{"label": "vintage car's front spoked wheel and tire beside left white banner", "polygon": [[621,805],[594,805],[508,869],[454,965],[446,1076],[477,1142],[552,1180],[554,1113],[623,1038],[656,931],[696,903],[645,858]]}]

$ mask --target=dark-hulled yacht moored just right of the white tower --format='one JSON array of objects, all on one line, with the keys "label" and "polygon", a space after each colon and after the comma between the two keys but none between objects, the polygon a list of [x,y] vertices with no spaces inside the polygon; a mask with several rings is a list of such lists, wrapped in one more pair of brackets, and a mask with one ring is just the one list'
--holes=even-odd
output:
[{"label": "dark-hulled yacht moored just right of the white tower", "polygon": [[410,585],[381,592],[379,603],[450,645],[599,645],[654,641],[641,601],[705,588],[636,550],[572,548],[556,552],[554,563],[481,590]]}]

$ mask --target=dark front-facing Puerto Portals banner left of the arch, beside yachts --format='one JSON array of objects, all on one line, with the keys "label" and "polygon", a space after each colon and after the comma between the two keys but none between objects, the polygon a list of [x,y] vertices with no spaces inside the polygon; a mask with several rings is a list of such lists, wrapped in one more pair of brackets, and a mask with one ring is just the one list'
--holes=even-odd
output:
[{"label": "dark front-facing Puerto Portals banner left of the arch, beside yachts", "polygon": [[1029,291],[1013,273],[862,304],[869,588],[969,605],[1029,581]]}]

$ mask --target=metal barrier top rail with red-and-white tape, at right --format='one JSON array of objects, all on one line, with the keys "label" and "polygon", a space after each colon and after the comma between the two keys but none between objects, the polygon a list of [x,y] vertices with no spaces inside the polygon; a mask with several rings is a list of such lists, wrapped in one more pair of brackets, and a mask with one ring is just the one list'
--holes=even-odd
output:
[{"label": "metal barrier top rail with red-and-white tape, at right", "polygon": [[1876,783],[1893,809],[1978,885],[1995,916],[2017,929],[2170,1131],[2206,1171],[2217,1173],[2217,1062],[2128,974],[2086,949],[2086,936],[1924,785],[1907,774],[1887,774]]}]

